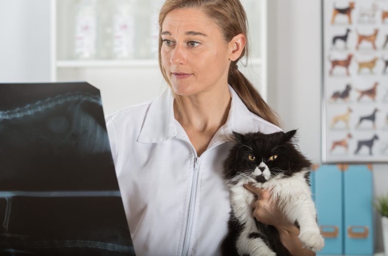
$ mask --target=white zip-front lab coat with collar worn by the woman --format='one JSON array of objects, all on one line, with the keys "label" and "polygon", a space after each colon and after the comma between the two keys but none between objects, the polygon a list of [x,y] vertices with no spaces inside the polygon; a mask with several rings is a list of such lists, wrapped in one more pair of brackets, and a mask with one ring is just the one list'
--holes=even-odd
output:
[{"label": "white zip-front lab coat with collar worn by the woman", "polygon": [[168,88],[152,102],[107,116],[119,188],[137,255],[219,255],[230,204],[223,160],[232,131],[280,131],[249,112],[229,86],[226,124],[197,157],[174,118]]}]

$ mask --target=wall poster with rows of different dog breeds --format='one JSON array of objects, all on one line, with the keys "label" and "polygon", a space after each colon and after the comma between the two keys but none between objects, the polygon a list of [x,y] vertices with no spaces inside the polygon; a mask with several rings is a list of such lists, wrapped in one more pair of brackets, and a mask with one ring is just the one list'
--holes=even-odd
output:
[{"label": "wall poster with rows of different dog breeds", "polygon": [[388,162],[388,1],[322,5],[322,160]]}]

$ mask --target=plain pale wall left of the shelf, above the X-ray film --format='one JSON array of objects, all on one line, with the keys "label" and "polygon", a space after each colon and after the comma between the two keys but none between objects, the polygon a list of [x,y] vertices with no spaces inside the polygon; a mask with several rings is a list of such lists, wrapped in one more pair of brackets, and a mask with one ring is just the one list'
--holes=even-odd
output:
[{"label": "plain pale wall left of the shelf, above the X-ray film", "polygon": [[49,82],[50,0],[0,0],[0,82]]}]

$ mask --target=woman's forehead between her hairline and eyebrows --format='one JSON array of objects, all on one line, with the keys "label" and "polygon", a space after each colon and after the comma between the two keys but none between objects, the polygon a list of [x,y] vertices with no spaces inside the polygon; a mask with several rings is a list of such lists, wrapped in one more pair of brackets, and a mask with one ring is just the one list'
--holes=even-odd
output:
[{"label": "woman's forehead between her hairline and eyebrows", "polygon": [[162,32],[171,35],[181,32],[214,33],[218,26],[204,12],[194,8],[174,9],[163,20]]}]

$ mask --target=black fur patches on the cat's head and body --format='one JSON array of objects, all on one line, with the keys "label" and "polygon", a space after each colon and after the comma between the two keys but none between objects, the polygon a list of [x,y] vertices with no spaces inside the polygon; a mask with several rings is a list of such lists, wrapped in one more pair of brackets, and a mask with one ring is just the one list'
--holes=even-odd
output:
[{"label": "black fur patches on the cat's head and body", "polygon": [[[245,173],[245,176],[251,175],[261,161],[267,164],[272,176],[283,175],[283,178],[288,178],[303,170],[309,170],[311,162],[297,149],[293,139],[295,133],[296,130],[291,130],[287,133],[280,131],[272,134],[263,134],[261,132],[239,134],[233,132],[235,145],[231,148],[229,155],[224,161],[224,173],[228,183],[236,185],[240,180],[239,178],[236,179],[236,176],[242,173]],[[255,156],[256,160],[248,160],[248,155]],[[277,156],[277,159],[269,161],[269,158],[274,155]],[[246,170],[252,171],[247,172]],[[309,185],[308,174],[309,172],[306,173],[305,179]],[[256,177],[256,180],[263,182],[262,178]],[[254,180],[252,179],[252,181]],[[278,256],[291,256],[287,248],[281,243],[279,233],[274,226],[258,221],[256,221],[256,225],[259,233],[251,233],[249,236],[259,236]],[[297,223],[295,225],[299,228]],[[239,255],[236,243],[242,228],[243,224],[236,219],[232,208],[228,222],[229,231],[221,246],[222,255]]]}]

